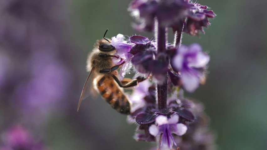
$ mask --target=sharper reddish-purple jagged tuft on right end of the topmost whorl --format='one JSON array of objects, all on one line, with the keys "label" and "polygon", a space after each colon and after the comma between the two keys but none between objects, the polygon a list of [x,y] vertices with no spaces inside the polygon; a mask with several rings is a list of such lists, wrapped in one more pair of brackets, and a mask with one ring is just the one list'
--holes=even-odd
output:
[{"label": "sharper reddish-purple jagged tuft on right end of the topmost whorl", "polygon": [[205,34],[202,27],[210,25],[208,18],[214,18],[215,16],[216,14],[212,10],[207,10],[207,6],[191,3],[191,9],[183,30],[194,36],[199,34],[199,30]]}]

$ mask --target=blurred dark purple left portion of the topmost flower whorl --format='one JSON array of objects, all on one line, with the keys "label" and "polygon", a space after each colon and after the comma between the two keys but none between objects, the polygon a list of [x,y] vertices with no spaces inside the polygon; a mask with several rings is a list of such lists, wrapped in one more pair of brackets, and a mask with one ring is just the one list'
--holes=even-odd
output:
[{"label": "blurred dark purple left portion of the topmost flower whorl", "polygon": [[134,0],[128,10],[140,24],[134,27],[139,31],[152,31],[154,18],[159,20],[160,26],[172,27],[186,17],[190,4],[184,0]]}]

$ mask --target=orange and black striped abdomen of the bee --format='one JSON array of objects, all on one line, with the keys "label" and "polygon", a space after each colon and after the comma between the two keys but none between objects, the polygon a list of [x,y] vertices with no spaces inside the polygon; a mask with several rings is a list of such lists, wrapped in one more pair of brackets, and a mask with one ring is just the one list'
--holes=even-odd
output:
[{"label": "orange and black striped abdomen of the bee", "polygon": [[103,76],[97,82],[97,89],[109,105],[122,114],[130,113],[130,103],[111,76]]}]

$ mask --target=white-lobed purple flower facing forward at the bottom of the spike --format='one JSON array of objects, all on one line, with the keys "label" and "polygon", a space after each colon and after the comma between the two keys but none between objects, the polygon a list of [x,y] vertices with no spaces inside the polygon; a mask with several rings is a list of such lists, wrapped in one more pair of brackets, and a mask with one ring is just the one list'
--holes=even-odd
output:
[{"label": "white-lobed purple flower facing forward at the bottom of the spike", "polygon": [[177,144],[172,136],[172,133],[182,136],[186,133],[187,127],[182,123],[178,123],[179,116],[173,115],[170,119],[166,116],[157,116],[157,125],[149,127],[149,133],[153,136],[161,135],[160,137],[160,150],[170,150],[172,146]]}]

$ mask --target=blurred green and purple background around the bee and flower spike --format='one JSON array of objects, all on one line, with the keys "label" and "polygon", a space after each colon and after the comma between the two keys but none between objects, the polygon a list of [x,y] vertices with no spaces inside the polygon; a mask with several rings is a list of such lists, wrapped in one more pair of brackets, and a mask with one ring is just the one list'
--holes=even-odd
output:
[{"label": "blurred green and purple background around the bee and flower spike", "polygon": [[[77,103],[87,54],[107,37],[138,33],[127,12],[130,0],[0,0],[0,145],[4,133],[23,125],[52,150],[144,150],[135,125],[100,97]],[[267,147],[266,1],[199,0],[217,17],[200,38],[211,56],[206,85],[194,94],[210,116],[221,150]],[[169,41],[172,42],[172,33]]]}]

